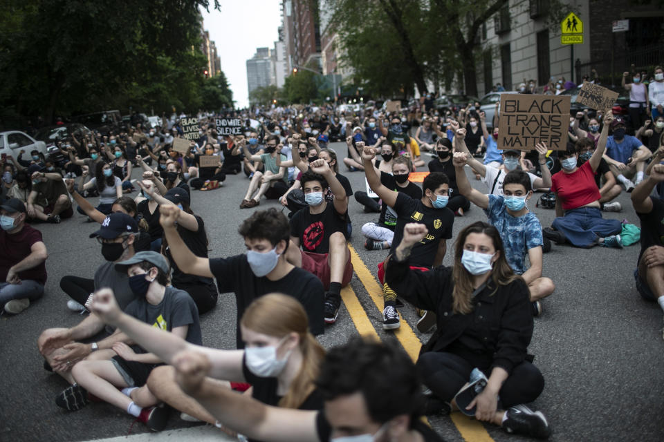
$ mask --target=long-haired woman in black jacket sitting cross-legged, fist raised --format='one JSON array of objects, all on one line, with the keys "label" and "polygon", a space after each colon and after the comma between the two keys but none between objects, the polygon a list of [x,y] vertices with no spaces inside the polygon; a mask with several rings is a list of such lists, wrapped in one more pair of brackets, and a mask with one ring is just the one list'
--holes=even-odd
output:
[{"label": "long-haired woman in black jacket sitting cross-legged, fist raised", "polygon": [[546,418],[525,405],[544,390],[544,376],[528,355],[533,337],[528,287],[510,267],[499,231],[474,222],[459,232],[453,266],[409,269],[416,244],[428,234],[423,224],[406,224],[385,269],[387,282],[404,299],[436,311],[438,330],[416,362],[432,392],[427,412],[458,410],[457,394],[479,369],[488,379],[464,414],[509,433],[546,438],[551,433]]}]

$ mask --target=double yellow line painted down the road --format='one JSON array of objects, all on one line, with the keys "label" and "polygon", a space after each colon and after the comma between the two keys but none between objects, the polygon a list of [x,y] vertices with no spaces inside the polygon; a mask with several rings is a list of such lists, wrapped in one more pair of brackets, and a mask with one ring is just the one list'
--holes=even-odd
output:
[{"label": "double yellow line painted down the road", "polygon": [[[348,247],[351,251],[351,261],[353,262],[355,273],[367,290],[367,294],[369,294],[369,298],[374,302],[376,309],[378,309],[380,318],[382,318],[382,287],[380,287],[380,284],[376,278],[374,278],[373,273],[369,271],[365,262],[360,259],[358,252],[353,249],[350,244]],[[371,336],[380,339],[380,336],[378,336],[374,325],[371,323],[371,320],[367,315],[367,311],[365,311],[360,304],[358,296],[350,285],[342,289],[341,298],[346,305],[346,309],[348,310],[358,333],[362,336]],[[401,318],[401,326],[394,331],[394,336],[398,339],[399,343],[412,360],[416,361],[422,344],[403,317]],[[483,425],[475,419],[469,418],[461,413],[452,413],[450,414],[450,418],[452,419],[452,422],[454,422],[454,425],[457,426],[457,430],[459,430],[461,437],[463,437],[465,441],[493,442],[493,439],[489,436],[488,432],[486,432]]]}]

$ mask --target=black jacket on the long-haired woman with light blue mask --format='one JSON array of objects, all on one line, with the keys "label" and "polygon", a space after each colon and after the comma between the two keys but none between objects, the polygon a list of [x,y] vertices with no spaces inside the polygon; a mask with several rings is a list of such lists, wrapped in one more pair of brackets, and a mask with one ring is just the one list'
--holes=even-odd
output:
[{"label": "black jacket on the long-haired woman with light blue mask", "polygon": [[421,353],[462,348],[487,360],[490,368],[502,367],[508,374],[524,360],[532,360],[526,350],[533,336],[533,313],[522,279],[497,290],[489,280],[473,298],[472,312],[465,315],[452,311],[452,267],[412,270],[408,260],[398,262],[393,255],[387,261],[385,280],[408,302],[436,313],[438,329]]}]

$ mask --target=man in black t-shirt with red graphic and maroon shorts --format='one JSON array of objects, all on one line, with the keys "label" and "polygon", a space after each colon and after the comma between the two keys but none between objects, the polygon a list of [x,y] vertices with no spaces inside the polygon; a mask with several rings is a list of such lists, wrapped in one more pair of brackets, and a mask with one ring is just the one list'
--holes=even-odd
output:
[{"label": "man in black t-shirt with red graphic and maroon shorts", "polygon": [[[333,324],[341,306],[341,289],[353,278],[351,253],[345,236],[348,196],[323,159],[309,164],[300,183],[308,207],[300,209],[291,218],[291,246],[286,258],[321,280],[326,289],[324,320]],[[334,195],[331,203],[326,199],[328,186]]]}]

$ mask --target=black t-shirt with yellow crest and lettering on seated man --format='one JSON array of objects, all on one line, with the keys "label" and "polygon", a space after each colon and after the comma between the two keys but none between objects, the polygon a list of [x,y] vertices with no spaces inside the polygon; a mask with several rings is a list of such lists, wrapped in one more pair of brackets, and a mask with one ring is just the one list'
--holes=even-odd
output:
[{"label": "black t-shirt with yellow crest and lettering on seated man", "polygon": [[392,250],[396,250],[401,242],[403,227],[407,223],[419,222],[424,224],[429,229],[429,233],[413,247],[410,262],[415,267],[432,267],[441,238],[446,240],[452,238],[454,212],[448,207],[443,207],[443,209],[427,207],[421,199],[414,200],[403,193],[396,194],[396,203],[393,209],[398,214],[398,218],[394,228]]}]

